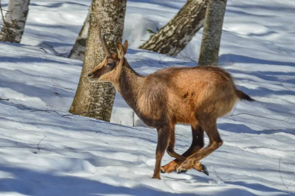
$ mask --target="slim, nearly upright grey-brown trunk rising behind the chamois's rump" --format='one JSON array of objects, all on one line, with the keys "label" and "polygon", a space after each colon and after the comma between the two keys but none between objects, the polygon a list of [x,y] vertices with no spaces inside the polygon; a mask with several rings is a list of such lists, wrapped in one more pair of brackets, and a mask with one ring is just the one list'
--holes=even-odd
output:
[{"label": "slim, nearly upright grey-brown trunk rising behind the chamois's rump", "polygon": [[226,0],[209,0],[203,30],[199,65],[218,65]]}]

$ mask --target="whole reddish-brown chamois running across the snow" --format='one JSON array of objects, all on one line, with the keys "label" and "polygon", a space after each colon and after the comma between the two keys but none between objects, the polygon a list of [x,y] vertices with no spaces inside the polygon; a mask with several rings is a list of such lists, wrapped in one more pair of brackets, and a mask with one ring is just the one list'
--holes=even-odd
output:
[{"label": "whole reddish-brown chamois running across the snow", "polygon": [[[254,101],[238,90],[231,75],[215,66],[171,67],[147,76],[136,73],[124,57],[127,40],[111,53],[99,34],[106,56],[88,74],[92,83],[112,83],[140,119],[158,132],[153,178],[161,172],[184,172],[194,168],[208,175],[199,161],[222,145],[216,119],[230,112],[238,100]],[[174,151],[177,123],[190,124],[193,142],[182,155]],[[204,131],[209,144],[204,147]],[[203,149],[202,149],[203,148]],[[161,167],[165,150],[176,160]]]}]

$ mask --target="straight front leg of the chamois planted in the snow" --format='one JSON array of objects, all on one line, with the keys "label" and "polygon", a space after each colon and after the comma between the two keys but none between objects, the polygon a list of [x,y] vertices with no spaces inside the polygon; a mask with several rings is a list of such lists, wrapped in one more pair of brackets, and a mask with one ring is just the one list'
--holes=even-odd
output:
[{"label": "straight front leg of the chamois planted in the snow", "polygon": [[152,178],[160,178],[160,168],[161,168],[161,160],[162,157],[165,153],[165,150],[168,145],[169,141],[169,135],[170,135],[170,130],[169,130],[169,125],[163,125],[161,128],[158,128],[158,143],[157,143],[157,148],[156,148],[156,165],[154,169],[154,174]]}]

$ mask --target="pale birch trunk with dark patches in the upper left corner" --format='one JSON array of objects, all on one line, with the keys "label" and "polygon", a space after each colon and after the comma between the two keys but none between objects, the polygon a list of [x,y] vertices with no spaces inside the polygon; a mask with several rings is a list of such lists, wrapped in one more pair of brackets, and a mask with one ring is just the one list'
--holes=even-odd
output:
[{"label": "pale birch trunk with dark patches in the upper left corner", "polygon": [[20,43],[29,12],[29,0],[9,0],[8,11],[3,19],[0,41]]}]

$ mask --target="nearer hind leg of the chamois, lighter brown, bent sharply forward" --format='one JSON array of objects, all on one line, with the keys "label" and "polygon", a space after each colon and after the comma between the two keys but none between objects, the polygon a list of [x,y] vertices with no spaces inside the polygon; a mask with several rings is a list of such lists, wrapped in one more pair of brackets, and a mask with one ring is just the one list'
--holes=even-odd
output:
[{"label": "nearer hind leg of the chamois, lighter brown, bent sharply forward", "polygon": [[222,145],[222,140],[219,136],[216,124],[216,118],[212,119],[210,117],[201,118],[201,126],[206,131],[209,137],[209,144],[206,148],[203,148],[199,152],[196,152],[189,156],[178,168],[177,172],[181,172],[182,170],[188,170],[191,168],[199,168],[199,161],[209,154],[211,154],[214,150],[219,148]]}]

